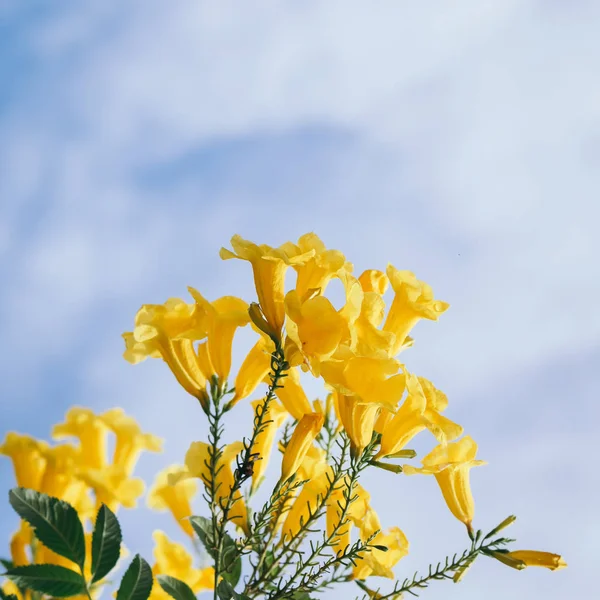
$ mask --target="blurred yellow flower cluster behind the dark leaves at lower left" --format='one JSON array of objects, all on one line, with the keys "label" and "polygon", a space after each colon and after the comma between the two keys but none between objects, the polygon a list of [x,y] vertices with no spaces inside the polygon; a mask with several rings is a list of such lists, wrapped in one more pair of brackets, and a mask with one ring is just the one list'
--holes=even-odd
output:
[{"label": "blurred yellow flower cluster behind the dark leaves at lower left", "polygon": [[[11,432],[0,445],[0,454],[12,460],[17,486],[65,500],[84,524],[89,524],[102,503],[113,511],[120,505],[135,507],[145,487],[141,479],[132,476],[135,464],[142,451],[162,449],[159,438],[144,433],[120,408],[97,415],[88,408],[73,407],[65,422],[54,426],[52,438],[72,441],[50,444]],[[110,459],[109,444],[114,448]],[[77,569],[74,563],[33,542],[31,528],[21,522],[10,544],[15,566],[52,563]],[[86,534],[86,543],[91,543],[90,534]],[[89,551],[87,556],[89,562]],[[86,569],[89,571],[89,564]],[[13,584],[5,585],[7,593],[13,589]],[[15,593],[14,589],[10,593]]]}]

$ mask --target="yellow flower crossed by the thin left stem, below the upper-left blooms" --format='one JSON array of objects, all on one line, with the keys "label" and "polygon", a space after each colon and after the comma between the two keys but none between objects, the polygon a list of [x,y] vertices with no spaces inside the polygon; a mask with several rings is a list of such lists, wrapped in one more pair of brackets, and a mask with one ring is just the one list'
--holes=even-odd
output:
[{"label": "yellow flower crossed by the thin left stem, below the upper-left blooms", "polygon": [[[168,481],[171,485],[178,483],[182,479],[189,477],[198,477],[205,485],[210,481],[210,446],[205,442],[192,442],[186,455],[185,466],[187,471],[184,473],[171,475]],[[225,446],[219,461],[217,463],[215,477],[215,486],[217,487],[217,502],[226,499],[235,483],[231,463],[235,457],[242,451],[243,444],[234,442]],[[229,511],[229,520],[237,527],[240,527],[244,533],[248,533],[248,514],[246,504],[240,491],[234,494],[234,503]]]}]

